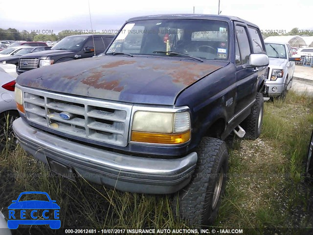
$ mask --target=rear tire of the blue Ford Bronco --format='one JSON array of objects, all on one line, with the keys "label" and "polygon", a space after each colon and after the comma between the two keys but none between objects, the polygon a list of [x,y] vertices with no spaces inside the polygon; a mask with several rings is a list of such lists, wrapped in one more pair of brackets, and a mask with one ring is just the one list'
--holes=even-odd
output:
[{"label": "rear tire of the blue Ford Bronco", "polygon": [[257,93],[251,114],[242,122],[241,126],[246,131],[245,138],[256,140],[261,134],[264,113],[264,99],[262,93]]}]

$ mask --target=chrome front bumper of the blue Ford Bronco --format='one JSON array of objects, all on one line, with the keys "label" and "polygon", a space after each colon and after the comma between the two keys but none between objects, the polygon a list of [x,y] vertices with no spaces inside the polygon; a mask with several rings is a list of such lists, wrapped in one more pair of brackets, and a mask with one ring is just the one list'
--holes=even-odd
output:
[{"label": "chrome front bumper of the blue Ford Bronco", "polygon": [[85,179],[122,191],[168,194],[185,187],[191,180],[198,155],[192,152],[179,159],[136,157],[66,141],[27,124],[13,122],[22,148],[39,161],[47,158],[73,168]]}]

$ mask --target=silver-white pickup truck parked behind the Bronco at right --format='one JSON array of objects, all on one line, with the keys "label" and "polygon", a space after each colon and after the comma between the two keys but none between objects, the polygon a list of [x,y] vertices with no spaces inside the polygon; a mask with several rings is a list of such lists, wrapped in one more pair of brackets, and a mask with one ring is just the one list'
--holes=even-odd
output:
[{"label": "silver-white pickup truck parked behind the Bronco at right", "polygon": [[286,43],[271,43],[265,39],[265,48],[269,57],[268,78],[268,97],[280,97],[284,99],[287,91],[292,86],[292,76],[295,67],[292,57],[292,50]]}]

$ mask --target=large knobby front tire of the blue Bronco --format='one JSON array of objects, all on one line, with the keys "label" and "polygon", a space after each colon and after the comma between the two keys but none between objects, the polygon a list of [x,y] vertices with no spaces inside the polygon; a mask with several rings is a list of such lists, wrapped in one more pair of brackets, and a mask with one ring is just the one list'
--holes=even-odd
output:
[{"label": "large knobby front tire of the blue Bronco", "polygon": [[224,194],[228,152],[224,141],[204,137],[198,149],[198,163],[189,185],[174,197],[173,211],[190,225],[212,224]]}]

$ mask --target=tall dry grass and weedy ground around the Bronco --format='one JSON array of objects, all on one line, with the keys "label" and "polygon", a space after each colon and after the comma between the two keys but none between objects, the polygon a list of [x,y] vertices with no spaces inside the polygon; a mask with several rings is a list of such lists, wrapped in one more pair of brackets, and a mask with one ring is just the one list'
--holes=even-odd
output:
[{"label": "tall dry grass and weedy ground around the Bronco", "polygon": [[[304,182],[312,129],[312,96],[290,92],[284,102],[266,102],[261,137],[229,142],[229,180],[213,226],[312,228],[313,189]],[[74,183],[47,171],[21,147],[4,149],[0,156],[3,214],[8,214],[11,200],[30,190],[45,191],[57,201],[66,228],[190,228],[173,215],[171,196],[120,192],[84,179]]]}]

